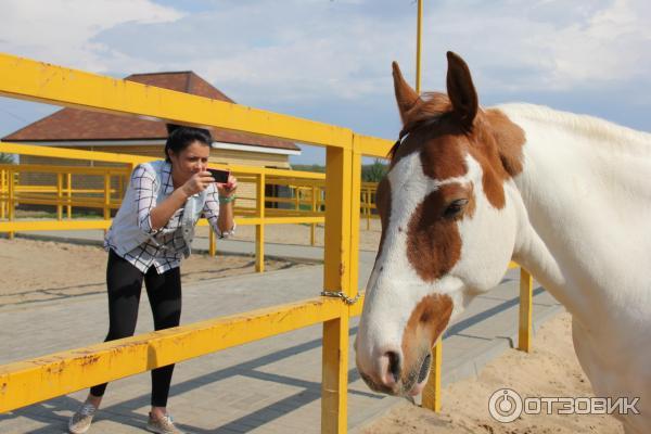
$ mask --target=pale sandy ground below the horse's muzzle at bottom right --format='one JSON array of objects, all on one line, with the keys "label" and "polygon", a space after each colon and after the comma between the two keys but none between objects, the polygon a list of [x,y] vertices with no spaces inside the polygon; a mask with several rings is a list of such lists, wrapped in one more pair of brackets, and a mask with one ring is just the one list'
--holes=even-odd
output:
[{"label": "pale sandy ground below the horse's muzzle at bottom right", "polygon": [[[623,433],[610,416],[523,414],[511,423],[500,423],[488,413],[488,399],[508,387],[524,397],[593,396],[578,366],[572,346],[572,321],[563,312],[545,323],[533,341],[533,352],[515,349],[487,365],[478,378],[468,379],[442,391],[442,412],[405,405],[394,407],[367,426],[365,434],[546,434],[546,433]],[[445,357],[445,355],[444,355]],[[553,409],[553,407],[552,407]]]}]

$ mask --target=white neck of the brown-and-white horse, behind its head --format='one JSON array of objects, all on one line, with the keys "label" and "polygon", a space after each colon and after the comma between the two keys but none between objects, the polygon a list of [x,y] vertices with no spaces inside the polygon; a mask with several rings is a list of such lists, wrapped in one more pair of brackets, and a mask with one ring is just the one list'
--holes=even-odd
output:
[{"label": "white neck of the brown-and-white horse, behind its head", "polygon": [[500,108],[526,132],[516,259],[579,320],[651,302],[636,273],[651,257],[651,135],[545,107]]}]

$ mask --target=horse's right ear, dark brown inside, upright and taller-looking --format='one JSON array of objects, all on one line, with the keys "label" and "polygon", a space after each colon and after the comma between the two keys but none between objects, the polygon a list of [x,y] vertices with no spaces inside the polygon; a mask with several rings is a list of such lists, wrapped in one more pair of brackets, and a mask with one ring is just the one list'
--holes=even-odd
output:
[{"label": "horse's right ear, dark brown inside, upright and taller-looking", "polygon": [[447,92],[452,103],[452,112],[462,126],[470,130],[480,106],[477,91],[463,59],[451,51],[447,52]]}]

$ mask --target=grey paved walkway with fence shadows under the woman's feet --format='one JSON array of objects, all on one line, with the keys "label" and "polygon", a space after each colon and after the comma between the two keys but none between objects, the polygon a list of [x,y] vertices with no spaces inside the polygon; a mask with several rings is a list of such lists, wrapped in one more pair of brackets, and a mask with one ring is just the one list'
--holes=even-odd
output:
[{"label": "grey paved walkway with fence shadows under the woman's feet", "polygon": [[[79,240],[99,240],[79,232]],[[69,232],[40,235],[65,235]],[[195,246],[204,248],[197,240]],[[220,242],[222,250],[251,244]],[[206,244],[207,246],[207,244]],[[322,257],[315,247],[267,245],[273,256]],[[278,255],[277,255],[278,254]],[[308,256],[312,255],[312,256]],[[373,253],[360,254],[360,282],[370,273]],[[321,291],[322,266],[202,281],[183,288],[183,323],[254,308],[314,297]],[[471,376],[518,335],[518,271],[510,271],[490,293],[477,297],[444,340],[443,383]],[[542,289],[535,290],[535,329],[561,309]],[[97,343],[106,333],[106,301],[102,294],[49,303],[0,307],[0,363]],[[350,345],[357,319],[352,321]],[[146,302],[141,303],[137,333],[152,330]],[[170,411],[189,433],[319,433],[321,327],[200,357],[177,366]],[[350,355],[354,355],[350,348]],[[399,399],[372,393],[349,360],[348,426],[355,432]],[[108,386],[91,433],[141,433],[149,409],[149,374]],[[62,433],[86,392],[59,397],[0,414],[1,433]],[[443,397],[445,406],[445,396]]]}]

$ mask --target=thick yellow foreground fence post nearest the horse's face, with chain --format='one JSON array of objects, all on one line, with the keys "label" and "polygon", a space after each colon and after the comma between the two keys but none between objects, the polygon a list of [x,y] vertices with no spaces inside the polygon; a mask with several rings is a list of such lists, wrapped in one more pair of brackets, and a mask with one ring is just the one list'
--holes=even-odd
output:
[{"label": "thick yellow foreground fence post nearest the horse's face, with chain", "polygon": [[[349,294],[350,182],[353,137],[346,148],[326,151],[326,291]],[[321,433],[347,430],[348,308],[341,303],[337,318],[323,322]]]}]

